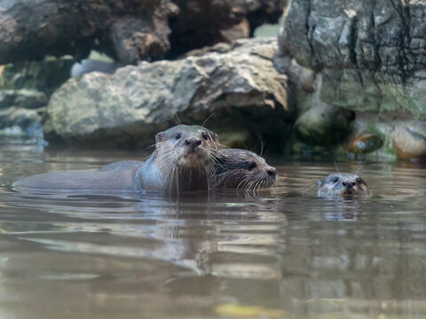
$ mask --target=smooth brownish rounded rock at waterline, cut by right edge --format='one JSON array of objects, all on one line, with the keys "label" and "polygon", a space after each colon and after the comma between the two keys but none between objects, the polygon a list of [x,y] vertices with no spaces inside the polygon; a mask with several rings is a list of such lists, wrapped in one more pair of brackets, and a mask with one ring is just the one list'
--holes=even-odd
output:
[{"label": "smooth brownish rounded rock at waterline, cut by right edge", "polygon": [[393,136],[393,148],[399,159],[425,159],[426,122],[398,128]]}]

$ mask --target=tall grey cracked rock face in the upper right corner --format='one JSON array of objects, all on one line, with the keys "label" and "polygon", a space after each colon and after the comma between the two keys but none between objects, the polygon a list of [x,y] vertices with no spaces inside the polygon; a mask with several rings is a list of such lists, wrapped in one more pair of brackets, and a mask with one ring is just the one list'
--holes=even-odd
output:
[{"label": "tall grey cracked rock face in the upper right corner", "polygon": [[426,4],[407,0],[292,0],[280,53],[322,76],[322,101],[426,119]]}]

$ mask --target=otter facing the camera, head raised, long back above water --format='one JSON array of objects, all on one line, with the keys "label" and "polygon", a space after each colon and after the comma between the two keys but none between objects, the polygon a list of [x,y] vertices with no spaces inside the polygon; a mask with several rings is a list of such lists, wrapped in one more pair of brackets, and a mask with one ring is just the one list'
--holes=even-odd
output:
[{"label": "otter facing the camera, head raised, long back above water", "polygon": [[39,174],[14,186],[55,191],[206,191],[218,148],[216,133],[178,125],[155,136],[155,151],[142,165],[118,169],[119,163],[113,163],[112,169],[95,172]]}]

